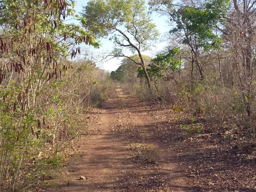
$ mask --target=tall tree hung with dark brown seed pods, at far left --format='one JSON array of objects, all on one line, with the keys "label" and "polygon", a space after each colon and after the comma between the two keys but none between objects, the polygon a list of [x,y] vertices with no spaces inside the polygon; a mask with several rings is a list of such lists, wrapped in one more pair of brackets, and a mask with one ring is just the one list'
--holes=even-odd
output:
[{"label": "tall tree hung with dark brown seed pods, at far left", "polygon": [[[60,150],[57,131],[64,126],[63,119],[68,119],[65,107],[79,99],[72,97],[63,105],[56,89],[67,82],[72,67],[68,58],[80,53],[79,44],[99,46],[87,30],[63,22],[68,15],[75,16],[73,7],[73,0],[0,0],[0,191],[7,187],[17,191],[21,187],[18,182],[33,177],[30,173],[44,164],[26,167],[35,151],[43,149],[43,139],[38,137],[41,131],[49,133],[49,157]],[[53,109],[47,108],[51,90],[55,90],[54,103],[62,105],[58,119],[54,119]],[[63,118],[63,123],[55,129],[51,118]],[[50,130],[42,129],[45,122]]]}]

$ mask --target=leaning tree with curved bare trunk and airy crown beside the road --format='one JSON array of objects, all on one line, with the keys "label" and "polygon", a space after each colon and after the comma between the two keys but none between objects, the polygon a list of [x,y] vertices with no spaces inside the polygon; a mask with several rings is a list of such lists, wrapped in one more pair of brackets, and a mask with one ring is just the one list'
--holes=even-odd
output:
[{"label": "leaning tree with curved bare trunk and airy crown beside the road", "polygon": [[[142,51],[150,48],[151,42],[156,40],[158,32],[151,23],[150,15],[146,13],[145,2],[141,0],[92,0],[84,7],[83,17],[87,20],[86,27],[98,36],[110,36],[119,46],[114,48],[110,56],[126,57],[142,67],[151,86],[146,71]],[[124,55],[123,48],[137,53],[140,60]]]}]

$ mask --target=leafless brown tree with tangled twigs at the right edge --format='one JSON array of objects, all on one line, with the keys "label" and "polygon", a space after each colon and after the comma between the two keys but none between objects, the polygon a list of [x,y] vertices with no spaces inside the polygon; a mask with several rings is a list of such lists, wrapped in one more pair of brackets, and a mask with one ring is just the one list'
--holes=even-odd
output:
[{"label": "leafless brown tree with tangled twigs at the right edge", "polygon": [[[226,45],[230,47],[231,61],[233,61],[232,73],[239,79],[238,86],[250,120],[252,120],[251,103],[255,100],[253,85],[256,46],[255,4],[256,1],[231,1],[225,28],[220,29]],[[235,84],[234,78],[232,84]]]}]

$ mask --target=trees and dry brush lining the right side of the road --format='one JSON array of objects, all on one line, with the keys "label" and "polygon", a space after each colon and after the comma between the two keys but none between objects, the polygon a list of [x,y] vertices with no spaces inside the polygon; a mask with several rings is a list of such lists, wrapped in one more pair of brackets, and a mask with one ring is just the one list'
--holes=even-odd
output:
[{"label": "trees and dry brush lining the right side of the road", "polygon": [[[127,58],[111,72],[112,79],[144,101],[242,129],[255,143],[254,2],[150,1],[149,5],[170,18],[168,46],[146,62],[151,87],[145,85],[143,68],[136,73]],[[183,129],[190,134],[190,127]]]}]

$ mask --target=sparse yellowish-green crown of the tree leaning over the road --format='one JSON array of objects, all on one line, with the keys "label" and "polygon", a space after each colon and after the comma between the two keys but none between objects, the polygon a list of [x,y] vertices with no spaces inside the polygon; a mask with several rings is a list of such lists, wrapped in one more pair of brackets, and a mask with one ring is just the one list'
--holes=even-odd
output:
[{"label": "sparse yellowish-green crown of the tree leaning over the road", "polygon": [[[140,0],[95,0],[89,1],[83,10],[86,27],[98,36],[108,36],[124,27],[124,33],[131,34],[136,42],[143,42],[143,49],[148,48],[147,41],[157,38],[155,25],[151,23],[145,11],[145,2]],[[122,34],[114,34],[112,40],[118,45],[123,42]],[[127,38],[125,39],[127,42]],[[134,52],[134,48],[131,47]],[[116,54],[120,49],[116,48]]]}]

